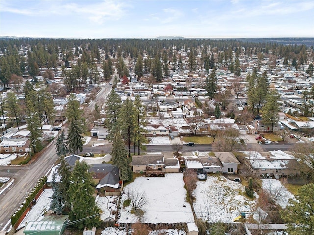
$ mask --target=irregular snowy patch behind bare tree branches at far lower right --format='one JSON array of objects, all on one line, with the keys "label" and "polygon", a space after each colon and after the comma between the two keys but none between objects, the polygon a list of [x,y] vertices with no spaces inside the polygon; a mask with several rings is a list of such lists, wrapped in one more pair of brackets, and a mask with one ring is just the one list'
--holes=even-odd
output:
[{"label": "irregular snowy patch behind bare tree branches at far lower right", "polygon": [[278,205],[282,208],[286,208],[288,205],[288,200],[294,198],[294,195],[281,184],[280,180],[276,179],[262,179],[262,188],[273,195],[278,195],[279,199],[277,201]]}]

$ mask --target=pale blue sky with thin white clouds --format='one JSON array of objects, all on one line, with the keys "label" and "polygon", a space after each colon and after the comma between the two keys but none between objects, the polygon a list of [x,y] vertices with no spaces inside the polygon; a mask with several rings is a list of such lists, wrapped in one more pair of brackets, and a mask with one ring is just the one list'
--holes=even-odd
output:
[{"label": "pale blue sky with thin white clouds", "polygon": [[0,0],[0,36],[314,37],[314,0]]}]

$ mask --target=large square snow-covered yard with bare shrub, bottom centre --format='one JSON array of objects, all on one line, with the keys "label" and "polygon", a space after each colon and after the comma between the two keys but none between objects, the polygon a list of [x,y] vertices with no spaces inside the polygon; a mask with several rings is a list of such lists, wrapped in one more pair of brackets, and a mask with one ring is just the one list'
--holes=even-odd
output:
[{"label": "large square snow-covered yard with bare shrub, bottom centre", "polygon": [[[183,174],[166,174],[165,177],[138,177],[128,184],[124,191],[138,189],[139,193],[146,194],[147,204],[143,207],[145,212],[143,222],[149,223],[177,223],[194,221],[191,206],[185,201]],[[122,195],[121,201],[127,199]],[[183,204],[186,207],[183,207]],[[121,203],[122,205],[122,203]],[[131,205],[121,208],[120,223],[137,222],[131,214]]]}]

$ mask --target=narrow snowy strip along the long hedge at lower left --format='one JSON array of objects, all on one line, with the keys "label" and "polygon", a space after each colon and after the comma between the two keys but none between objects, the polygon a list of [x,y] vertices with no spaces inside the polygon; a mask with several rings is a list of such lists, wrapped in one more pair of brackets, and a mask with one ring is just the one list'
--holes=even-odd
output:
[{"label": "narrow snowy strip along the long hedge at lower left", "polygon": [[25,223],[28,221],[36,221],[44,216],[44,213],[49,210],[52,196],[52,189],[45,189],[43,193],[37,200],[37,203],[32,207],[32,209],[26,214],[24,220],[19,225],[19,228],[25,226]]}]

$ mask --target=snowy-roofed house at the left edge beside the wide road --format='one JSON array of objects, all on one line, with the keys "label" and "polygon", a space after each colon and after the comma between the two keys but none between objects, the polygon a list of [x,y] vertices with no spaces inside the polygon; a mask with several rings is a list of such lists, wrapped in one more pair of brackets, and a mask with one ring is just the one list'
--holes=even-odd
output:
[{"label": "snowy-roofed house at the left edge beside the wide road", "polygon": [[24,153],[30,151],[28,138],[5,138],[0,143],[1,153]]}]

